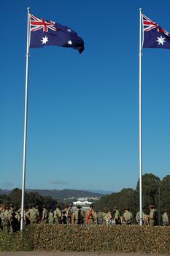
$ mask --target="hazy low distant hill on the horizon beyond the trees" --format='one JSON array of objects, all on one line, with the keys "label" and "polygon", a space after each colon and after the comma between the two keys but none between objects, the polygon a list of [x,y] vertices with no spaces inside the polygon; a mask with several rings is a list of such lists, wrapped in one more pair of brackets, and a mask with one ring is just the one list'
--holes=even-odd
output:
[{"label": "hazy low distant hill on the horizon beyond the trees", "polygon": [[[12,190],[4,190],[0,189],[0,194],[9,195],[9,193],[12,192]],[[26,189],[27,193],[30,192],[38,192],[39,195],[43,197],[53,197],[54,199],[74,199],[79,197],[102,197],[100,193],[97,192],[89,192],[85,190],[77,190],[77,189]]]}]

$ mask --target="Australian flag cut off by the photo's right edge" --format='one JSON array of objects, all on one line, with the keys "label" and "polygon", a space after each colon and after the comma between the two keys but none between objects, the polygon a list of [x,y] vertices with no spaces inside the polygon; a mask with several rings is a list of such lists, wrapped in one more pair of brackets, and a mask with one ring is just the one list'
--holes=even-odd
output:
[{"label": "Australian flag cut off by the photo's right edge", "polygon": [[157,23],[142,14],[144,41],[143,48],[170,49],[170,34]]}]

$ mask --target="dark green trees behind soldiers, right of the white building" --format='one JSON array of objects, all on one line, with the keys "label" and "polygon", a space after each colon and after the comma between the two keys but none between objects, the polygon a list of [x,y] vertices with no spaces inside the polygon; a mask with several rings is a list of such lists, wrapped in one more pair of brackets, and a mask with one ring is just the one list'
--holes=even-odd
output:
[{"label": "dark green trees behind soldiers, right of the white building", "polygon": [[[170,212],[170,176],[167,175],[161,180],[152,173],[144,174],[142,176],[142,201],[147,214],[150,204],[155,205],[159,216],[163,214],[165,208]],[[121,212],[125,207],[129,207],[135,216],[139,211],[139,181],[136,184],[136,189],[122,189],[120,192],[101,197],[95,203],[98,211],[102,211],[102,208],[106,206],[110,211],[117,206]]]}]

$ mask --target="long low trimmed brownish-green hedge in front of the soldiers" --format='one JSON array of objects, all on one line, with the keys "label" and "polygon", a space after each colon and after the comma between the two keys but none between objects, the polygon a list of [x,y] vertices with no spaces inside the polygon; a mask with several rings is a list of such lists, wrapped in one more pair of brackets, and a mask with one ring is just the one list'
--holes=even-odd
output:
[{"label": "long low trimmed brownish-green hedge in front of the soldiers", "polygon": [[0,251],[170,252],[170,227],[29,225],[0,233]]}]

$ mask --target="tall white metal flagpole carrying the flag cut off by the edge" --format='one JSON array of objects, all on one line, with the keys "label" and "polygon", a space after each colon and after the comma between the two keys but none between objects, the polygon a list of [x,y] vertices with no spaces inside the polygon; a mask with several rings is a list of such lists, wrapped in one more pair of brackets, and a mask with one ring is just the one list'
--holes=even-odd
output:
[{"label": "tall white metal flagpole carrying the flag cut off by the edge", "polygon": [[142,225],[142,8],[139,9],[139,209]]}]

